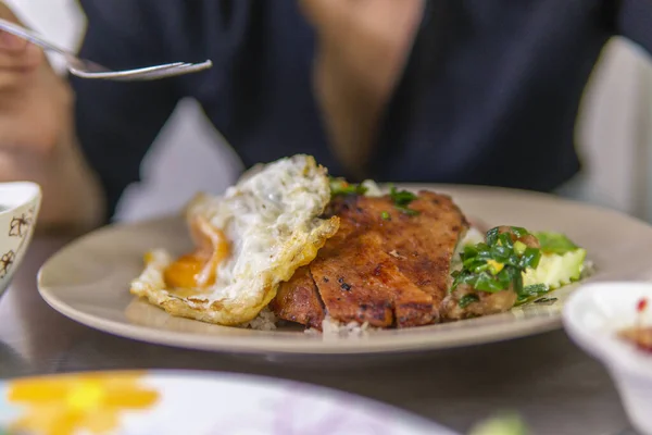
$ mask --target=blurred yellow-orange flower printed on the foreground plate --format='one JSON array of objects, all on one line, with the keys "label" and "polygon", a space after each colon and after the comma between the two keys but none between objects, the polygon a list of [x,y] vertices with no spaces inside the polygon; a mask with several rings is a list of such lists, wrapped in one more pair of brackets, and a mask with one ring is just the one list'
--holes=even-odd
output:
[{"label": "blurred yellow-orange flower printed on the foreground plate", "polygon": [[17,380],[8,400],[26,408],[12,426],[43,435],[77,431],[104,434],[115,430],[124,411],[146,410],[159,393],[139,384],[145,373],[122,372]]}]

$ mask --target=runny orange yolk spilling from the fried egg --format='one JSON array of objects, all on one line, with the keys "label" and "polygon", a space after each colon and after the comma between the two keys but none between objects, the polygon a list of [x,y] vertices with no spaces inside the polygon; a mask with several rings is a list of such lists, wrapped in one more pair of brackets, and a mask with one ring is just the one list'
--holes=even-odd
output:
[{"label": "runny orange yolk spilling from the fried egg", "polygon": [[197,249],[165,269],[163,278],[168,287],[205,288],[215,284],[217,266],[230,253],[230,245],[222,229],[213,227],[205,217],[192,219],[190,234]]}]

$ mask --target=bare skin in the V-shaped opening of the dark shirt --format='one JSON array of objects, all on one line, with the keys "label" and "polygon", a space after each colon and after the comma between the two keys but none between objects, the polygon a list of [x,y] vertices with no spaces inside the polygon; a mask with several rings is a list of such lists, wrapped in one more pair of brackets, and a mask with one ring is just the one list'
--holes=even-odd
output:
[{"label": "bare skin in the V-shaped opening of the dark shirt", "polygon": [[360,176],[411,51],[424,0],[300,1],[317,35],[315,94],[331,145]]}]

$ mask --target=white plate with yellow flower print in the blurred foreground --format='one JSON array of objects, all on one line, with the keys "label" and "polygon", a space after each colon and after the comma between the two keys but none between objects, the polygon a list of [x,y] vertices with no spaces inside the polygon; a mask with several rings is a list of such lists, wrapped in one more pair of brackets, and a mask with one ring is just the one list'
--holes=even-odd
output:
[{"label": "white plate with yellow flower print in the blurred foreground", "polygon": [[0,384],[0,433],[3,427],[34,435],[98,430],[115,435],[454,434],[405,411],[327,388],[176,371],[8,381]]}]

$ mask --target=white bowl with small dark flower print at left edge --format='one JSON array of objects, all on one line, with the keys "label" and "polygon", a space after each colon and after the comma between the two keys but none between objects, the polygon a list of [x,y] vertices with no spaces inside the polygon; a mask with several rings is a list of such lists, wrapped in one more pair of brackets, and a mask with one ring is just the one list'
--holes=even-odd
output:
[{"label": "white bowl with small dark flower print at left edge", "polygon": [[0,295],[32,241],[40,202],[41,189],[35,183],[0,183]]}]

